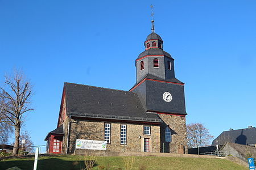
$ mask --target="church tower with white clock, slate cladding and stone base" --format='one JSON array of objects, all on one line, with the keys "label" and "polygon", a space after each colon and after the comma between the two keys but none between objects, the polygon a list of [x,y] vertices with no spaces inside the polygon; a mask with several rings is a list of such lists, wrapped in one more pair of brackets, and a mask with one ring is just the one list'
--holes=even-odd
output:
[{"label": "church tower with white clock, slate cladding and stone base", "polygon": [[154,20],[151,23],[145,50],[135,61],[136,83],[130,91],[137,93],[146,112],[158,114],[163,120],[161,151],[181,154],[187,152],[184,83],[175,78],[174,58],[163,50]]}]

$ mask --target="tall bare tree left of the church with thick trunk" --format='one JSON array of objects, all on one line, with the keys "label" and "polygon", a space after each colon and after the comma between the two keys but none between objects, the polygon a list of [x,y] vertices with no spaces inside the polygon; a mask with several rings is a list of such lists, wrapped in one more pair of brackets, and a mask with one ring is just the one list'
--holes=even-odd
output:
[{"label": "tall bare tree left of the church with thick trunk", "polygon": [[24,113],[33,111],[29,108],[31,97],[30,82],[22,74],[15,71],[13,77],[5,76],[6,88],[0,87],[0,95],[5,100],[1,114],[7,124],[14,127],[15,142],[13,155],[19,152],[20,128],[24,121]]}]

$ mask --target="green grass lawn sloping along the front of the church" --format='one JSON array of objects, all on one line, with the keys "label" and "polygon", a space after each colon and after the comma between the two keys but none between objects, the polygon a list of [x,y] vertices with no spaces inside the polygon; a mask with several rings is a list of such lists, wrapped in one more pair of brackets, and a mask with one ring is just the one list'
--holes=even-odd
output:
[{"label": "green grass lawn sloping along the front of the church", "polygon": [[[93,169],[124,169],[123,157],[98,157]],[[129,158],[125,158],[129,159]],[[131,159],[131,158],[130,158]],[[157,156],[135,156],[132,169],[230,169],[230,170],[247,170],[236,163],[225,159],[208,159],[208,158],[174,158],[174,157],[157,157]],[[19,167],[20,169],[33,169],[33,158],[15,158],[4,159],[0,161],[0,169],[10,167]],[[78,155],[59,155],[59,156],[40,156],[38,161],[38,170],[72,170],[84,168],[84,156]]]}]

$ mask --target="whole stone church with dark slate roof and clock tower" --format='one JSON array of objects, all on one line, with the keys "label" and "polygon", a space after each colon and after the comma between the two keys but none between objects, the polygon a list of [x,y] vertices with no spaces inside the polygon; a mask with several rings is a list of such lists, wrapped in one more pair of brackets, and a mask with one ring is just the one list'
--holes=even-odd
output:
[{"label": "whole stone church with dark slate roof and clock tower", "polygon": [[64,83],[47,153],[82,153],[77,139],[106,141],[106,151],[113,152],[187,153],[184,83],[175,78],[174,58],[151,22],[129,91]]}]

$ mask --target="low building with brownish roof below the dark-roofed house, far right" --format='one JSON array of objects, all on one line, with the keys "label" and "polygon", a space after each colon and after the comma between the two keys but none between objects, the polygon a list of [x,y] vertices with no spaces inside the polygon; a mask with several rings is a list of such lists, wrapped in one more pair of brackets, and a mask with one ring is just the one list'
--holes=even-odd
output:
[{"label": "low building with brownish roof below the dark-roofed house, far right", "polygon": [[247,158],[256,158],[256,147],[227,142],[221,149],[229,156],[236,156],[247,162]]}]

